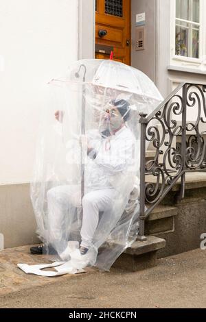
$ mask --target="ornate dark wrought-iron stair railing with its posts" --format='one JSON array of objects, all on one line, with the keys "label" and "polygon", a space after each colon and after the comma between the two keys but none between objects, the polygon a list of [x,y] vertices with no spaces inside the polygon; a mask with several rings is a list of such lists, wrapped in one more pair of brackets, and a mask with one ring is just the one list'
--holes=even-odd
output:
[{"label": "ornate dark wrought-iron stair railing with its posts", "polygon": [[[141,118],[139,240],[146,240],[145,220],[185,173],[206,169],[206,84],[180,84],[149,116]],[[155,157],[146,162],[146,147]]]}]

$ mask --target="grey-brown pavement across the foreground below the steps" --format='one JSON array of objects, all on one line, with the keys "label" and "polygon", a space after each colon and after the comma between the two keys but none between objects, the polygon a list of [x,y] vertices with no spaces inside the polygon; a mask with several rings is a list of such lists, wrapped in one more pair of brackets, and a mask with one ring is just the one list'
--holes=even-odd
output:
[{"label": "grey-brown pavement across the foreground below the steps", "polygon": [[161,258],[157,267],[135,273],[87,268],[78,275],[41,277],[16,266],[49,262],[29,249],[0,252],[0,308],[206,307],[206,250]]}]

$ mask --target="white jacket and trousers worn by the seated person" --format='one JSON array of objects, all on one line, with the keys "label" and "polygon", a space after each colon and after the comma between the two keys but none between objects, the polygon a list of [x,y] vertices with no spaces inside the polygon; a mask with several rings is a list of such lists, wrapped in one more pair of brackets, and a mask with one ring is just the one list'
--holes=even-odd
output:
[{"label": "white jacket and trousers worn by the seated person", "polygon": [[[84,197],[82,198],[81,245],[91,247],[95,230],[98,226],[100,212],[113,207],[113,200],[119,193],[118,182],[133,165],[135,137],[124,126],[109,138],[95,140],[95,149],[89,153],[85,166]],[[95,154],[95,156],[94,156]],[[47,193],[50,240],[62,240],[62,223],[70,207],[81,206],[81,196],[77,193],[78,186],[65,185],[52,188]],[[79,190],[80,191],[80,190]],[[75,212],[71,212],[74,214]],[[68,214],[69,216],[69,214]],[[75,218],[69,219],[71,225]],[[62,258],[65,259],[65,258]]]}]

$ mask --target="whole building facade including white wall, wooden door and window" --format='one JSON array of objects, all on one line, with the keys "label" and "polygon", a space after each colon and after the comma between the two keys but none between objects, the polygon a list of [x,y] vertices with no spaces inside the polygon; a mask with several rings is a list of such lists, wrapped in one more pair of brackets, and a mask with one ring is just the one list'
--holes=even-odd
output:
[{"label": "whole building facade including white wall, wooden door and window", "polygon": [[49,79],[74,60],[109,58],[114,49],[114,59],[129,55],[126,62],[146,73],[163,97],[181,82],[206,84],[205,0],[0,0],[0,39],[5,247],[37,241],[29,186]]}]

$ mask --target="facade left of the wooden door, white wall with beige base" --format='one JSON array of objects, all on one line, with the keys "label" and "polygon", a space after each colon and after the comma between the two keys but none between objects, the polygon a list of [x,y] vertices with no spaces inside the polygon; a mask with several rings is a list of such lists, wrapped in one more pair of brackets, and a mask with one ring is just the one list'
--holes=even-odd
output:
[{"label": "facade left of the wooden door, white wall with beige base", "polygon": [[30,182],[47,82],[69,63],[93,57],[93,5],[93,0],[0,0],[0,236],[4,247],[37,241]]}]

